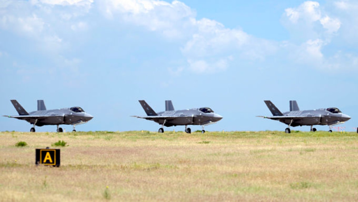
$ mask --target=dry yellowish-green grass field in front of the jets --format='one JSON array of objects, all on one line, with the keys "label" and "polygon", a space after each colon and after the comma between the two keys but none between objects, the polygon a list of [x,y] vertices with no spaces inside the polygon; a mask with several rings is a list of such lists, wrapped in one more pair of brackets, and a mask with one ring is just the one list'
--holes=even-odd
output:
[{"label": "dry yellowish-green grass field in front of the jets", "polygon": [[358,201],[358,134],[0,132],[0,200]]}]

